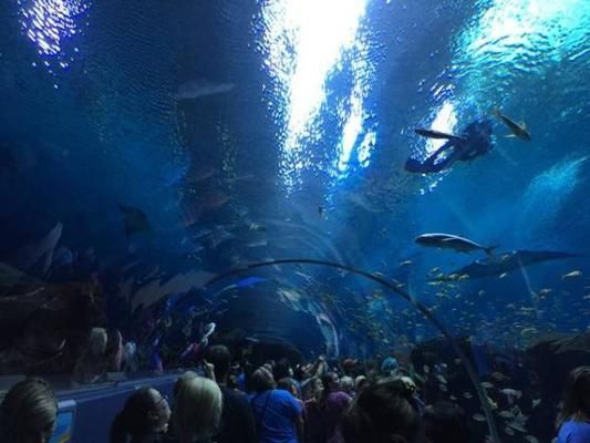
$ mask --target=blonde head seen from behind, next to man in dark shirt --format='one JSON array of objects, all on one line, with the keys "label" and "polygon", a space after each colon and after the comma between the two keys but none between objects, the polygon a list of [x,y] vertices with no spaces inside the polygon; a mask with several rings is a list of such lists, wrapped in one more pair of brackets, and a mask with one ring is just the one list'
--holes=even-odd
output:
[{"label": "blonde head seen from behind, next to man in dark shirt", "polygon": [[219,429],[221,406],[221,390],[214,381],[204,377],[187,377],[179,381],[172,416],[174,432],[180,443],[215,435]]}]

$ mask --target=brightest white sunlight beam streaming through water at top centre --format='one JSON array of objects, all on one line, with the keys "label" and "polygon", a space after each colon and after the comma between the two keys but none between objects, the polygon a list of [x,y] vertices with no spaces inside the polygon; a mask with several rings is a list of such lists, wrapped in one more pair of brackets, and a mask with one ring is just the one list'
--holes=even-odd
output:
[{"label": "brightest white sunlight beam streaming through water at top centre", "polygon": [[[265,66],[273,81],[275,97],[281,102],[284,120],[281,134],[281,175],[288,188],[301,184],[301,172],[314,166],[315,159],[308,146],[322,136],[320,111],[328,100],[327,81],[334,70],[351,63],[353,84],[348,106],[339,112],[343,122],[338,146],[337,171],[348,168],[359,135],[363,130],[365,112],[363,100],[368,87],[360,71],[366,70],[362,56],[348,60],[346,52],[362,53],[358,38],[368,0],[281,0],[262,3],[262,53]],[[356,53],[355,53],[356,55]],[[360,73],[359,73],[360,72]],[[368,144],[368,146],[372,146]],[[365,165],[370,147],[359,153]],[[362,158],[362,161],[361,161]]]}]

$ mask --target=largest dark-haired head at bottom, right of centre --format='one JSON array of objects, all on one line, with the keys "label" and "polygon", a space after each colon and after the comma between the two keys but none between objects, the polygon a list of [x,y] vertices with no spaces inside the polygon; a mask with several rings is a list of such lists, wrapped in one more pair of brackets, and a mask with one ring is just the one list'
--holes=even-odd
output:
[{"label": "largest dark-haired head at bottom, right of centre", "polygon": [[420,414],[401,380],[366,387],[342,420],[346,443],[412,443],[417,440],[418,429]]}]

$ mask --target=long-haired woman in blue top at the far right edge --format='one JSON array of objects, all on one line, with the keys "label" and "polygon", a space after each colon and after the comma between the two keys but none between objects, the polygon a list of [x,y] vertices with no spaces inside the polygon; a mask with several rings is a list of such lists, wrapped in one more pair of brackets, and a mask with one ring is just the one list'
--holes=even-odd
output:
[{"label": "long-haired woman in blue top at the far right edge", "polygon": [[557,429],[558,443],[590,442],[590,367],[576,368],[569,373]]}]

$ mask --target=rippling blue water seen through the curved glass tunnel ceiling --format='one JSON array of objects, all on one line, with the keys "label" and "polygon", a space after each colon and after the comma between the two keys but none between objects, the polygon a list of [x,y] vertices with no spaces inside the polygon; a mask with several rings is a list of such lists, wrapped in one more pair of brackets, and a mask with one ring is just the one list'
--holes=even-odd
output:
[{"label": "rippling blue water seen through the curved glass tunnel ceiling", "polygon": [[[568,309],[583,280],[561,278],[588,274],[584,259],[443,290],[434,276],[485,254],[414,243],[448,231],[499,251],[588,253],[583,0],[2,8],[0,91],[13,105],[0,131],[18,171],[2,178],[7,261],[62,226],[60,247],[124,269],[121,293],[156,316],[172,293],[203,306],[210,293],[195,289],[227,269],[307,257],[403,285],[453,333],[526,346],[587,327]],[[495,106],[526,121],[534,142],[495,123],[486,157],[428,176],[403,169],[442,144],[415,127],[459,132]],[[139,208],[149,229],[126,236],[120,206]],[[260,280],[216,296],[220,331],[297,342],[301,315],[314,333],[301,349],[338,339],[342,352],[436,333],[346,274],[277,266],[250,277]],[[371,319],[379,327],[362,340]]]}]

